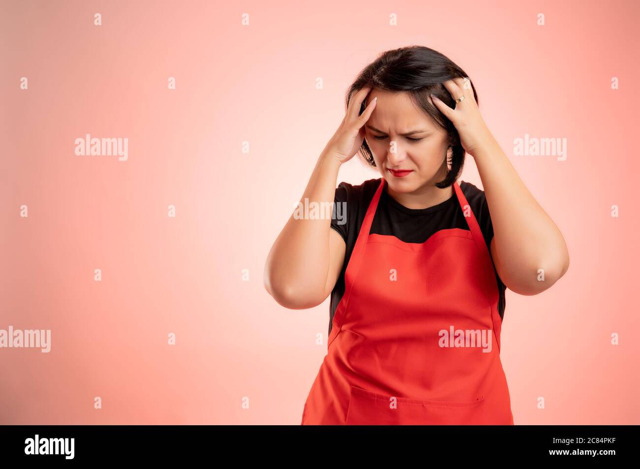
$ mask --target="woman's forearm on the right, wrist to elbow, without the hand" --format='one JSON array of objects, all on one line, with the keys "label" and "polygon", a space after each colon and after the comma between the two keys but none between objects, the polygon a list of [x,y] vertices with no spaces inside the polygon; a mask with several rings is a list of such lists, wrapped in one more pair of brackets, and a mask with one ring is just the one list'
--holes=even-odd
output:
[{"label": "woman's forearm on the right, wrist to elbow, without the hand", "polygon": [[[495,139],[473,156],[491,213],[502,280],[515,291],[534,293],[548,288],[568,268],[562,233],[527,190]],[[544,282],[540,282],[540,269]]]}]

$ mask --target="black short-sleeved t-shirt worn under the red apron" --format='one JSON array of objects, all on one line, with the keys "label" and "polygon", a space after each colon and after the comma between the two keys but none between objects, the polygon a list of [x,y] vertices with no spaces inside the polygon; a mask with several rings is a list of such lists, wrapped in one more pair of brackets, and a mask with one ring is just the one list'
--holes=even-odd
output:
[{"label": "black short-sleeved t-shirt worn under the red apron", "polygon": [[[484,191],[477,188],[472,183],[458,181],[462,193],[465,194],[467,202],[473,211],[474,216],[483,233],[484,241],[491,255],[491,240],[493,239],[493,224],[489,213],[489,206],[486,203]],[[331,227],[335,229],[346,243],[344,264],[340,277],[335,282],[335,287],[331,293],[331,305],[329,314],[329,334],[333,323],[333,315],[338,307],[342,295],[344,295],[344,273],[346,272],[351,252],[355,247],[360,227],[364,221],[369,203],[380,185],[380,178],[364,181],[360,185],[351,185],[342,182],[335,189],[335,203],[346,202],[346,210],[338,211],[334,205],[335,214],[331,219]],[[342,207],[344,205],[341,205]],[[346,222],[345,222],[346,220]],[[458,196],[452,194],[449,199],[442,203],[428,208],[406,208],[396,199],[389,196],[385,189],[380,194],[380,201],[376,214],[371,223],[372,234],[383,234],[396,236],[404,243],[424,243],[429,236],[441,229],[460,228],[469,230],[467,219],[462,211]],[[493,258],[492,258],[493,260]],[[500,280],[498,272],[493,267],[495,278],[498,282],[500,298],[498,311],[500,318],[504,316],[505,286]]]}]

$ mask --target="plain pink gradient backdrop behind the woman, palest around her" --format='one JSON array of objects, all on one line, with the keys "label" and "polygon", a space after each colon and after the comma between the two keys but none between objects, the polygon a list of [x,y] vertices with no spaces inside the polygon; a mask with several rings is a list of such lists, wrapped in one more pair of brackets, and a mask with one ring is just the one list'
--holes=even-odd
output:
[{"label": "plain pink gradient backdrop behind the woman, palest around her", "polygon": [[[634,1],[2,1],[0,328],[51,329],[52,345],[0,349],[0,424],[300,424],[329,303],[280,307],[264,262],[355,74],[412,44],[467,71],[569,247],[553,288],[507,291],[515,423],[639,424],[639,13]],[[76,157],[85,134],[127,137],[129,159]],[[515,157],[524,134],[566,138],[566,161]],[[378,176],[353,158],[338,182]],[[482,187],[472,157],[462,180]]]}]

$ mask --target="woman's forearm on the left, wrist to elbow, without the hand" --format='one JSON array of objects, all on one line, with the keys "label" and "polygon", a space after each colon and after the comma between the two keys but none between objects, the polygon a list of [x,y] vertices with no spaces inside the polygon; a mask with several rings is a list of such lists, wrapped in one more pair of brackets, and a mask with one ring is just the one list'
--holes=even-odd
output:
[{"label": "woman's forearm on the left, wrist to elbow, without the hand", "polygon": [[[330,262],[331,204],[339,169],[337,158],[323,151],[300,199],[302,210],[293,211],[269,252],[264,284],[286,307],[312,307],[324,294]],[[305,214],[305,206],[312,208],[314,204],[318,210]]]}]

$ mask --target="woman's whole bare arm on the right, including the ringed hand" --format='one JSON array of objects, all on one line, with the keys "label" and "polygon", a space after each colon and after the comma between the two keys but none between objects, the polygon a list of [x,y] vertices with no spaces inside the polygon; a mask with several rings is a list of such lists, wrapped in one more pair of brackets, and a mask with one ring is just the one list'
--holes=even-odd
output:
[{"label": "woman's whole bare arm on the right, including the ringed hand", "polygon": [[541,293],[569,268],[564,237],[484,123],[468,77],[443,84],[456,98],[455,109],[434,95],[431,101],[456,126],[462,146],[476,160],[493,222],[495,269],[515,293]]}]

